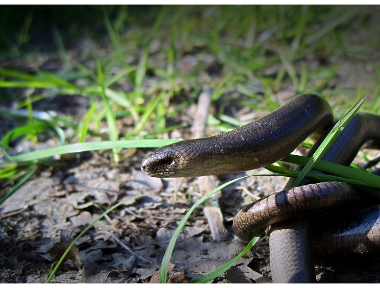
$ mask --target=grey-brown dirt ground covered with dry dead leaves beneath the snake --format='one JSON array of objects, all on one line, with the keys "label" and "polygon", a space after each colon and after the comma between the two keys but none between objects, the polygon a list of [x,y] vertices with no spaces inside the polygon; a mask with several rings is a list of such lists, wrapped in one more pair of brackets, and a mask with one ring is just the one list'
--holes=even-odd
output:
[{"label": "grey-brown dirt ground covered with dry dead leaves beneath the snake", "polygon": [[[373,55],[375,53],[378,51]],[[46,62],[54,57],[50,55]],[[181,59],[179,62],[185,63],[189,57],[192,57],[191,53],[188,53],[187,60]],[[376,75],[371,70],[374,58],[335,58],[334,61],[343,64],[328,87],[343,91],[355,85],[373,85],[361,75]],[[315,65],[315,61],[315,58],[310,58],[307,65]],[[11,66],[9,63],[7,65]],[[283,89],[276,96],[285,101],[293,92]],[[342,99],[344,101],[354,96],[333,98],[331,104],[334,106]],[[40,105],[62,107],[59,101],[65,101],[65,109],[72,108],[75,114],[87,104],[84,97],[71,99],[75,101],[57,96],[50,103]],[[190,119],[195,106],[194,102],[193,106],[184,109],[184,116],[180,116],[182,118],[178,122]],[[56,109],[58,111],[60,108]],[[12,126],[6,118],[1,118],[1,121],[3,129]],[[171,136],[188,138],[189,130],[177,130]],[[47,139],[41,143],[46,147],[57,145]],[[22,151],[25,146],[34,144],[20,142],[17,145]],[[109,160],[106,151],[61,156],[50,167],[40,169],[0,208],[0,282],[46,282],[51,265],[60,258],[68,244],[107,208],[122,201],[125,202],[76,242],[76,248],[68,255],[51,283],[155,282],[171,236],[201,193],[196,178],[158,179],[146,176],[140,170],[140,163],[151,151],[125,149],[122,154],[129,157],[116,166]],[[249,173],[268,171],[258,169]],[[216,179],[221,184],[244,174],[222,175]],[[169,277],[181,272],[187,277],[196,278],[239,254],[246,245],[233,235],[232,220],[242,207],[253,201],[246,191],[261,197],[282,190],[285,181],[281,177],[253,176],[218,192],[227,229],[226,240],[212,239],[203,209],[197,208],[177,240]],[[130,199],[143,193],[146,195]],[[379,255],[333,258],[316,255],[315,268],[318,283],[380,282]],[[212,282],[270,283],[268,232],[236,265]]]}]

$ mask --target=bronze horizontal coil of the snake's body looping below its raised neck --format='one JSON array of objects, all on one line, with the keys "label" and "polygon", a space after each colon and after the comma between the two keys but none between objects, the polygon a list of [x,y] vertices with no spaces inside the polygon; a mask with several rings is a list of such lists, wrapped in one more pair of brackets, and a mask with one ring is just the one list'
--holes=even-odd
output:
[{"label": "bronze horizontal coil of the snake's body looping below its raised neck", "polygon": [[233,232],[250,241],[256,231],[295,217],[353,207],[356,192],[344,182],[322,182],[295,187],[258,199],[233,219]]}]

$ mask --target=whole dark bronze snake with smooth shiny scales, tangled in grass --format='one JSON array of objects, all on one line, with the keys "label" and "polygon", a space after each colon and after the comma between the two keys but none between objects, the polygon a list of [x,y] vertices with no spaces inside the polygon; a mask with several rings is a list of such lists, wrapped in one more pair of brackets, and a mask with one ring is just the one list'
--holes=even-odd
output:
[{"label": "whole dark bronze snake with smooth shiny scales, tangled in grass", "polygon": [[[283,159],[308,136],[317,134],[320,139],[307,154],[312,155],[332,125],[332,109],[324,98],[299,95],[268,115],[226,133],[162,146],[142,161],[141,169],[149,176],[165,178],[261,168]],[[322,160],[350,165],[367,142],[380,148],[380,116],[358,113]],[[289,180],[283,191],[243,208],[233,221],[234,233],[246,241],[251,240],[257,230],[271,225],[269,248],[273,282],[315,282],[313,248],[331,253],[380,252],[380,206],[347,212],[337,220],[331,216],[320,220],[323,217],[319,213],[355,207],[360,198],[366,197],[365,191],[359,193],[345,182],[308,181],[288,189],[291,182]],[[318,232],[313,233],[314,230]]]}]

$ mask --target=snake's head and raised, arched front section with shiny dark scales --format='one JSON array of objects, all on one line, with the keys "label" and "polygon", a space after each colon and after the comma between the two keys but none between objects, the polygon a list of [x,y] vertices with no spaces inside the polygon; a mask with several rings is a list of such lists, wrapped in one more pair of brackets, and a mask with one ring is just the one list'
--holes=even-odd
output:
[{"label": "snake's head and raised, arched front section with shiny dark scales", "polygon": [[326,100],[301,95],[232,131],[163,146],[144,159],[141,169],[152,177],[195,177],[252,170],[281,160],[311,133],[323,131],[331,123],[332,111]]}]

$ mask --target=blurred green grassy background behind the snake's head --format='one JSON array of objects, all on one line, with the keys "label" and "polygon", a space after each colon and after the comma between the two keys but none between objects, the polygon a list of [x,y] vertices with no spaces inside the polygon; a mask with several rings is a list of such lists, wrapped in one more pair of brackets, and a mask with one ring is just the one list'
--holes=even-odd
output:
[{"label": "blurred green grassy background behind the snake's head", "polygon": [[[337,117],[371,94],[363,110],[380,114],[379,6],[1,8],[0,136],[10,154],[51,138],[188,138],[208,88],[210,134],[302,93],[327,98]],[[28,144],[17,148],[21,135]]]}]

